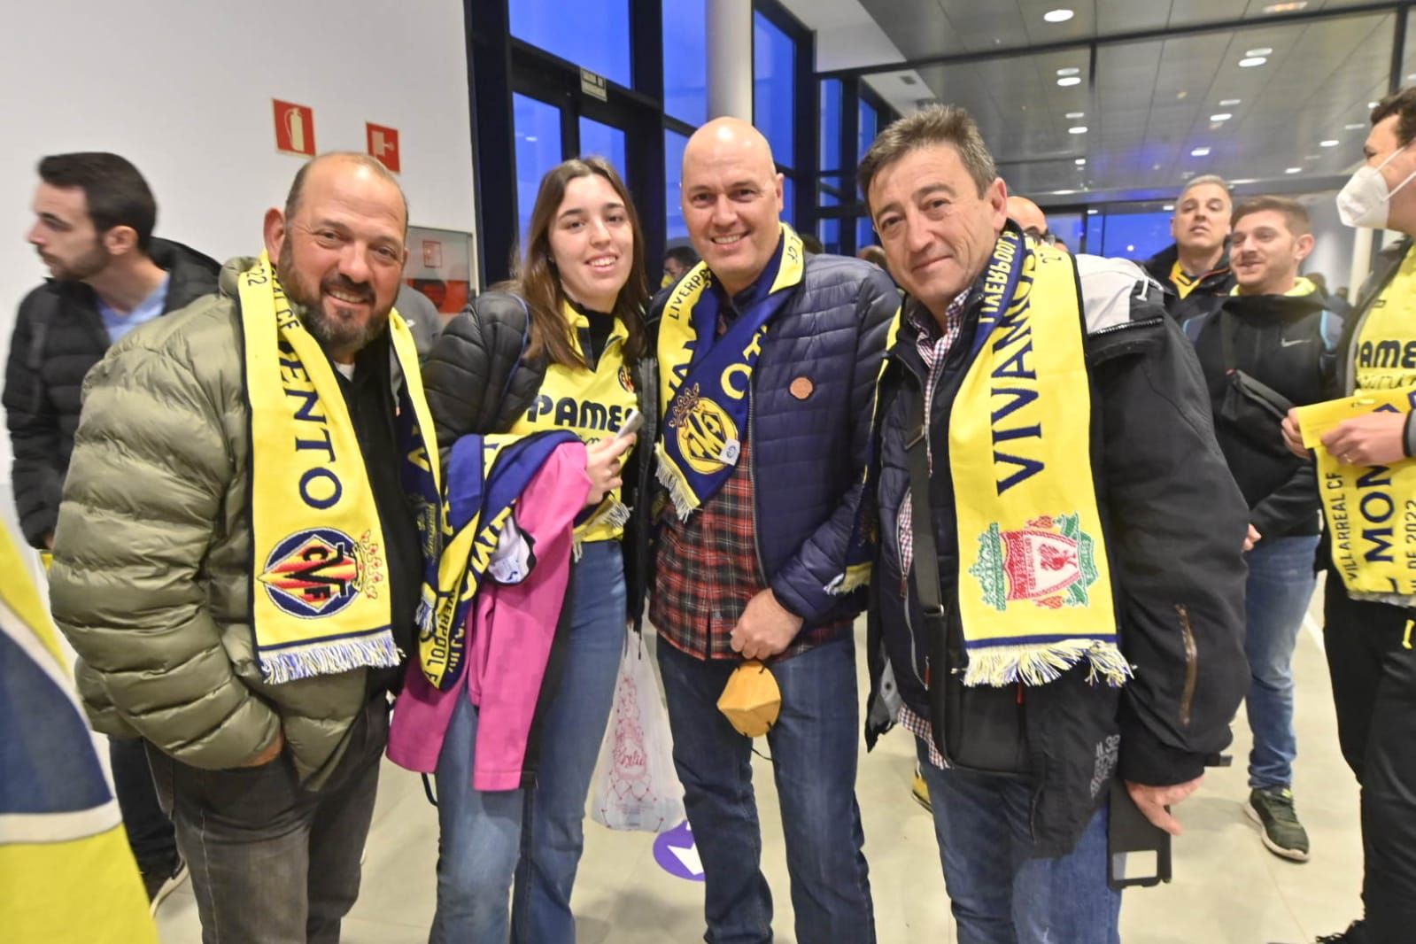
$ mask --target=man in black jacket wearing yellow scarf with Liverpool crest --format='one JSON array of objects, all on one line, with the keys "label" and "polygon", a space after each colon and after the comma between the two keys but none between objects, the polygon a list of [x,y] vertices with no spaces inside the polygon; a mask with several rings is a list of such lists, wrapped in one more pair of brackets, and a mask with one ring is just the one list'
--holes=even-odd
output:
[{"label": "man in black jacket wearing yellow scarf with Liverpool crest", "polygon": [[960,941],[1116,941],[1109,798],[1178,834],[1243,692],[1243,504],[1194,354],[1134,263],[1024,236],[963,109],[886,127],[858,181],[906,292],[867,742],[918,739]]}]

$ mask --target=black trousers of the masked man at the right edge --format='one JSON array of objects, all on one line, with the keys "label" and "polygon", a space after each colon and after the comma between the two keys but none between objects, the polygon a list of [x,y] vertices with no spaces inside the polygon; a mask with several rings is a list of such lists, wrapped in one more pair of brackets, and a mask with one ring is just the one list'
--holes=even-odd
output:
[{"label": "black trousers of the masked man at the right edge", "polygon": [[[1337,733],[1362,787],[1362,902],[1374,944],[1416,927],[1416,610],[1347,596],[1328,572],[1323,638]],[[1416,630],[1413,630],[1416,631]]]}]

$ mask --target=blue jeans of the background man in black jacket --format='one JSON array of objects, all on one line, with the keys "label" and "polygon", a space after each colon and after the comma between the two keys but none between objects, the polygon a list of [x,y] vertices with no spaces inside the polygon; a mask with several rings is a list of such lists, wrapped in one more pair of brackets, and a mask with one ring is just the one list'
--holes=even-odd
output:
[{"label": "blue jeans of the background man in black jacket", "polygon": [[1246,585],[1245,655],[1249,658],[1249,785],[1287,787],[1298,737],[1293,730],[1293,647],[1313,586],[1317,535],[1263,538],[1245,556]]}]

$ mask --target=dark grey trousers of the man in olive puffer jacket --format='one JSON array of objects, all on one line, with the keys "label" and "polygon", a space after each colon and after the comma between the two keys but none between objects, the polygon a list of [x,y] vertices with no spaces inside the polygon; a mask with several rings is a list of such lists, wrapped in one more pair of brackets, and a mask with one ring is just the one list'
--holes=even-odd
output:
[{"label": "dark grey trousers of the man in olive puffer jacket", "polygon": [[152,750],[153,773],[191,868],[202,944],[337,943],[358,897],[388,705],[364,708],[319,791],[285,754],[263,767],[200,770]]}]

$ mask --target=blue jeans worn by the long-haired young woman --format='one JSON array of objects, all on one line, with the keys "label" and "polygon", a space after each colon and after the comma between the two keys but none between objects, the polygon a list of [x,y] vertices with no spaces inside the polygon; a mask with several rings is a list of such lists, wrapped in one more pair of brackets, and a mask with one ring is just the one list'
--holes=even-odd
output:
[{"label": "blue jeans worn by the long-haired young woman", "polygon": [[[438,757],[435,944],[572,944],[582,819],[624,648],[624,559],[596,541],[573,565],[565,674],[541,733],[532,788],[472,788],[477,712],[459,698]],[[514,920],[507,907],[515,885]]]}]

